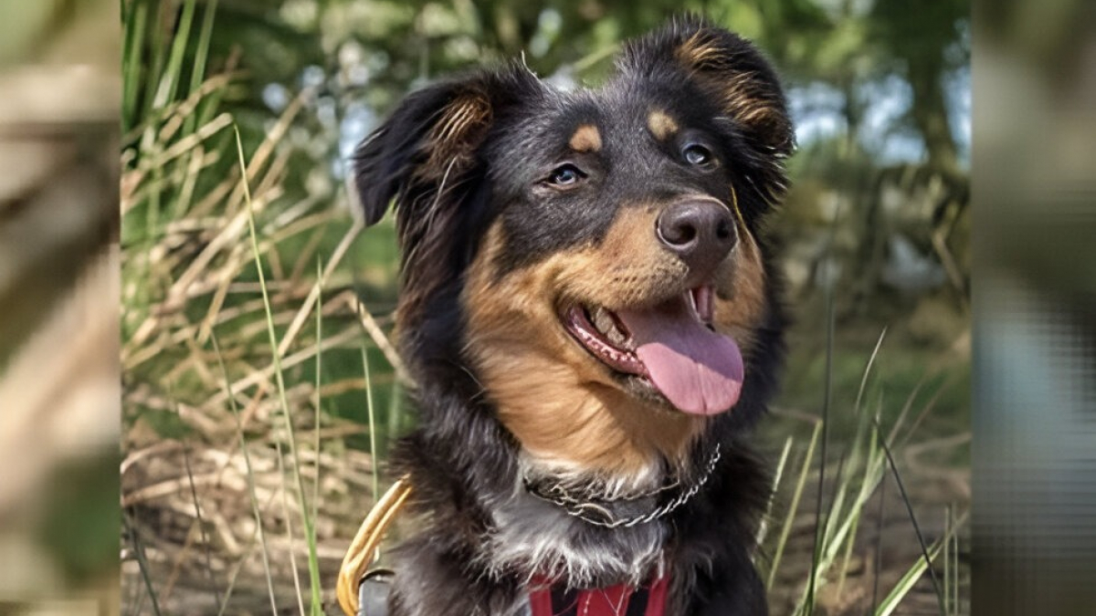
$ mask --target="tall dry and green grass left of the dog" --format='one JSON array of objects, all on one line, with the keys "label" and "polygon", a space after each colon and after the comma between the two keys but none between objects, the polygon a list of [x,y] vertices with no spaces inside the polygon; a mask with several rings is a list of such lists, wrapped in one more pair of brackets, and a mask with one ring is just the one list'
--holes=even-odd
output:
[{"label": "tall dry and green grass left of the dog", "polygon": [[[127,19],[158,23],[139,15],[148,7],[129,4]],[[380,429],[341,412],[365,401],[347,356],[368,347],[395,362],[390,322],[362,305],[346,267],[361,226],[285,190],[285,136],[310,93],[237,148],[221,99],[241,76],[178,60],[207,48],[195,9],[183,5],[182,38],[127,37],[124,604],[316,614],[376,476],[354,444]],[[374,387],[398,400],[384,373]],[[387,436],[401,413],[386,411]]]}]

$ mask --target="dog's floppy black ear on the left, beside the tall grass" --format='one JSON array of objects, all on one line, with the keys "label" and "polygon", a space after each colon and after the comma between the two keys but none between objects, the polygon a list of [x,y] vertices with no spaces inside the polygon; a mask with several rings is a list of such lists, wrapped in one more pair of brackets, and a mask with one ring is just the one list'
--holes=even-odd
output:
[{"label": "dog's floppy black ear on the left, beside the tall grass", "polygon": [[467,226],[484,169],[480,148],[500,114],[541,89],[524,67],[509,66],[444,81],[408,95],[357,147],[354,189],[366,225],[389,204],[402,248],[400,319],[422,313],[468,259]]}]

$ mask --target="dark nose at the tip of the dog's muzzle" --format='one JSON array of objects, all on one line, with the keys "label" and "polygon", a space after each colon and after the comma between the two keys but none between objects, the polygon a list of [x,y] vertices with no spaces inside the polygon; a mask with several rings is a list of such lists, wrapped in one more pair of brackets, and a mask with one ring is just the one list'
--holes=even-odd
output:
[{"label": "dark nose at the tip of the dog's muzzle", "polygon": [[693,271],[710,273],[734,248],[731,212],[718,202],[689,201],[659,216],[659,239]]}]

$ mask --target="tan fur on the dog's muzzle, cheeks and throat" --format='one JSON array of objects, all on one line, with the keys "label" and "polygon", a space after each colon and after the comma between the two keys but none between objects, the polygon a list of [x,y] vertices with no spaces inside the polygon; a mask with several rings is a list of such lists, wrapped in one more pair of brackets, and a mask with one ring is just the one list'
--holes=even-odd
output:
[{"label": "tan fur on the dog's muzzle, cheeks and throat", "polygon": [[[682,459],[705,418],[657,408],[624,391],[563,329],[559,306],[619,309],[684,293],[685,266],[654,231],[660,209],[623,207],[600,246],[555,254],[499,277],[502,227],[490,229],[463,296],[466,350],[502,423],[534,459],[606,475],[641,474],[658,456]],[[741,217],[740,217],[741,221]],[[744,238],[721,267],[717,327],[742,336],[764,307],[760,251]],[[677,281],[677,284],[674,282]],[[726,288],[723,288],[726,286]]]}]

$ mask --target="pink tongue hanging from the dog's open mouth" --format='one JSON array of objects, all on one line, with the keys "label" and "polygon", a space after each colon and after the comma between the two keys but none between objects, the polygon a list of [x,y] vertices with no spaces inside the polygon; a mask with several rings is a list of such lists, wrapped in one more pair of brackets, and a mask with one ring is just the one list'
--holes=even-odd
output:
[{"label": "pink tongue hanging from the dog's open mouth", "polygon": [[742,391],[742,353],[693,315],[684,296],[649,310],[620,310],[654,386],[686,413],[730,410]]}]

